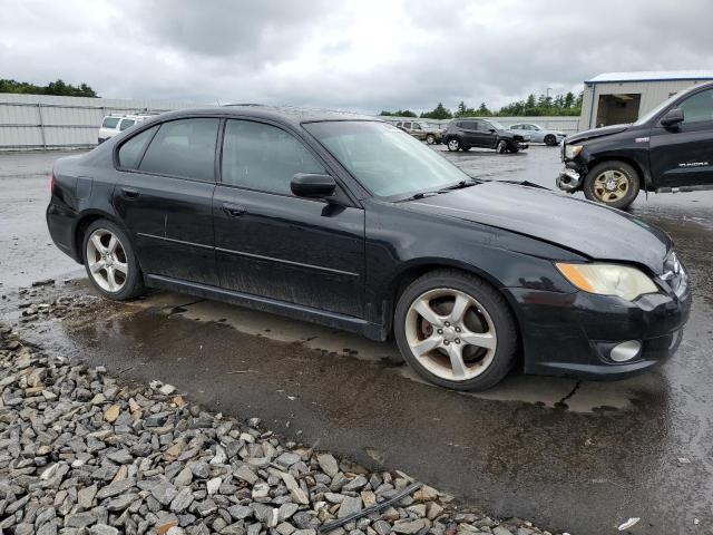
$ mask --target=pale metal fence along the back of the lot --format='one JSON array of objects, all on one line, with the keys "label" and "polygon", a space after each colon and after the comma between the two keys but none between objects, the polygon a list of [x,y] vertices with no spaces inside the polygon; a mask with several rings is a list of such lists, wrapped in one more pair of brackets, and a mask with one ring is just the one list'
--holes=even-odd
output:
[{"label": "pale metal fence along the back of the lot", "polygon": [[[0,150],[91,148],[101,119],[109,114],[162,113],[198,106],[172,100],[55,97],[0,94]],[[382,117],[395,121],[398,117]],[[409,117],[403,119],[410,120]],[[505,126],[535,123],[544,128],[577,132],[578,117],[496,117]],[[424,119],[446,124],[448,120]]]}]

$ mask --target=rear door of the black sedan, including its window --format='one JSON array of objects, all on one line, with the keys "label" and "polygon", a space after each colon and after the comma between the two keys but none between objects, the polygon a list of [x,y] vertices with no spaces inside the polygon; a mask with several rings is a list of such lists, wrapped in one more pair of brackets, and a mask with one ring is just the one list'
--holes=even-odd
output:
[{"label": "rear door of the black sedan, including its window", "polygon": [[217,285],[213,194],[219,123],[166,121],[118,149],[114,205],[145,274]]}]

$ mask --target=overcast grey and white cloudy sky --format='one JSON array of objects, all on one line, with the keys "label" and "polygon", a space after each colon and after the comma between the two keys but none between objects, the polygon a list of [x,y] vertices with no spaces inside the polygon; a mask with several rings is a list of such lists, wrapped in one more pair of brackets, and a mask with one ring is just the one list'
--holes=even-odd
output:
[{"label": "overcast grey and white cloudy sky", "polygon": [[606,71],[713,69],[710,0],[0,0],[0,78],[117,98],[498,108]]}]

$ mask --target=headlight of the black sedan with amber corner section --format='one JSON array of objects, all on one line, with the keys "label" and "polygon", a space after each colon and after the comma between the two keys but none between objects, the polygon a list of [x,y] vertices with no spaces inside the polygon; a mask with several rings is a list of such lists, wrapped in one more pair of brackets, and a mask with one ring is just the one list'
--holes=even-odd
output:
[{"label": "headlight of the black sedan with amber corner section", "polygon": [[618,295],[627,301],[645,293],[656,293],[658,288],[642,271],[618,264],[563,264],[557,269],[579,290],[599,295]]}]

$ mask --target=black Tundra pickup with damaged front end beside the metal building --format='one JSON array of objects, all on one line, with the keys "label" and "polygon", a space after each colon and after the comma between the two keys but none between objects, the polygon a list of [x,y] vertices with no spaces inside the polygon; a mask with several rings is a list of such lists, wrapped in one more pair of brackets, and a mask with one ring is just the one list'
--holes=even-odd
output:
[{"label": "black Tundra pickup with damaged front end beside the metal building", "polygon": [[713,189],[713,82],[674,95],[632,125],[582,132],[563,145],[557,186],[626,208],[639,189]]}]

